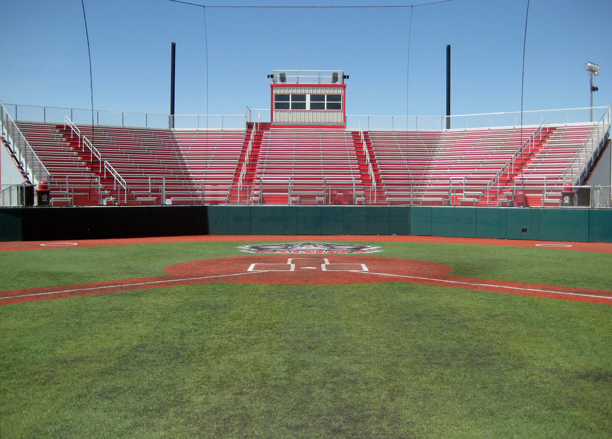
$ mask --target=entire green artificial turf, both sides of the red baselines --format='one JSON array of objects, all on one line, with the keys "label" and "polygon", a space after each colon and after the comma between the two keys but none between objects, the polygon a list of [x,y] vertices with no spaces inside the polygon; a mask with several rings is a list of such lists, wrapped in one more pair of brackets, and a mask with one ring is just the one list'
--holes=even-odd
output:
[{"label": "entire green artificial turf, both sides of the red baselines", "polygon": [[[1,289],[242,243],[1,253]],[[380,243],[453,274],[612,289],[610,255]],[[244,254],[244,253],[242,253]],[[612,307],[411,283],[212,283],[0,307],[5,438],[610,438]]]}]

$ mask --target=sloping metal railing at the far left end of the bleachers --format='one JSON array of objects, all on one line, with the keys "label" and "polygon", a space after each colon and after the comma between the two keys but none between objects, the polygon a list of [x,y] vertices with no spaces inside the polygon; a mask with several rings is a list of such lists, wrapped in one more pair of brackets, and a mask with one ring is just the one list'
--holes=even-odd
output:
[{"label": "sloping metal railing at the far left end of the bleachers", "polygon": [[42,161],[36,155],[34,148],[13,121],[6,107],[0,102],[0,125],[2,137],[6,140],[7,147],[15,157],[24,177],[31,183],[38,184],[39,181],[49,180],[50,174]]}]

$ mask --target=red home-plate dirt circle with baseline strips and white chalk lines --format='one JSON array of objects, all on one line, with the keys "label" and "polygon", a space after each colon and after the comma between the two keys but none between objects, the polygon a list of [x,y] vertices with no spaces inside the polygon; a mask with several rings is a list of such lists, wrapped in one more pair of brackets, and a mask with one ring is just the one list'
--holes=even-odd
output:
[{"label": "red home-plate dirt circle with baseline strips and white chalk lines", "polygon": [[18,289],[0,292],[0,304],[106,292],[230,282],[258,284],[364,284],[408,282],[612,305],[612,291],[455,277],[435,262],[361,255],[249,255],[200,259],[166,267],[166,276]]}]

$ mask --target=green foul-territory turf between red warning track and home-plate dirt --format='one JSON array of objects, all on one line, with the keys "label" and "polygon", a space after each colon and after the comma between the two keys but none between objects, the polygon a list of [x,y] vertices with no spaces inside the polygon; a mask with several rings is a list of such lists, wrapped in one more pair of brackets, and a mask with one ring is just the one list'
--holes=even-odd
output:
[{"label": "green foul-territory turf between red warning track and home-plate dirt", "polygon": [[[159,276],[195,259],[244,256],[253,242],[185,242],[53,248],[0,253],[0,291]],[[452,275],[612,290],[612,254],[493,245],[355,242],[379,245],[368,256],[417,259],[453,267]],[[355,255],[357,258],[359,255]]]}]

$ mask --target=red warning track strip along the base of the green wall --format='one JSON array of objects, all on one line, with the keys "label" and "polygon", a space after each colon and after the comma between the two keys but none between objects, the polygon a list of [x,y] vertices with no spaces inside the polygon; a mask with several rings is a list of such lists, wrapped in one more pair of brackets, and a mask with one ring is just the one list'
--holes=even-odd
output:
[{"label": "red warning track strip along the base of the green wall", "polygon": [[612,243],[606,242],[563,242],[563,241],[534,241],[518,239],[485,239],[485,238],[453,238],[439,236],[417,235],[195,235],[195,236],[166,236],[152,238],[128,239],[89,239],[65,241],[16,241],[0,242],[0,251],[23,250],[51,250],[53,248],[66,248],[72,246],[92,247],[105,245],[130,245],[165,242],[213,242],[213,241],[376,241],[376,242],[434,242],[472,245],[499,245],[510,247],[539,247],[555,248],[558,250],[596,251],[612,253]]}]

